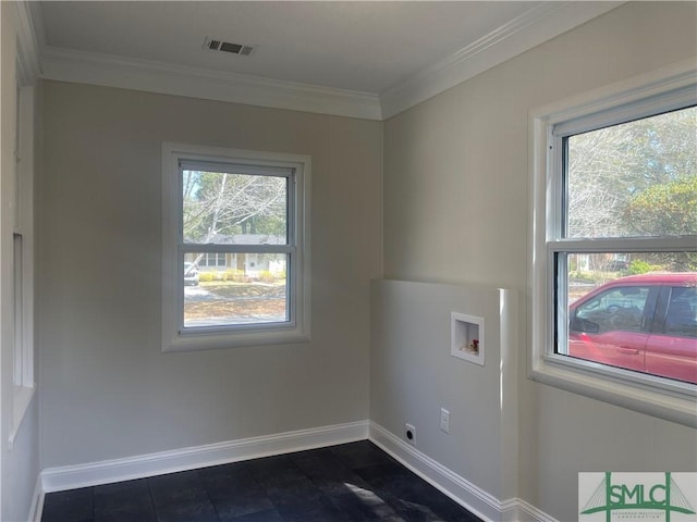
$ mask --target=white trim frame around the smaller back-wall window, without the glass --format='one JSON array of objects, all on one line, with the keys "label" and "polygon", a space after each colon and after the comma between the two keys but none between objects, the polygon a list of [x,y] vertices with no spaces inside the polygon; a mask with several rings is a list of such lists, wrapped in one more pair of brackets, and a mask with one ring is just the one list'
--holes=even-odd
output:
[{"label": "white trim frame around the smaller back-wall window, without the glass", "polygon": [[[288,325],[258,324],[248,328],[221,328],[201,332],[181,328],[181,273],[179,269],[179,204],[181,201],[179,160],[244,160],[249,164],[295,169],[294,216],[296,252],[293,257],[295,277],[289,288],[294,322]],[[310,338],[310,172],[311,159],[302,154],[228,149],[185,144],[162,144],[162,351],[193,351],[237,346],[306,343]]]}]

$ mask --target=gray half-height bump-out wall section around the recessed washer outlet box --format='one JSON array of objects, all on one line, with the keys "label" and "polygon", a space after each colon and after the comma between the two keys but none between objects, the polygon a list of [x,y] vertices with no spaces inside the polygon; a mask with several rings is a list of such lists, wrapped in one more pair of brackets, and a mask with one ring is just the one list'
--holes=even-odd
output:
[{"label": "gray half-height bump-out wall section around the recessed washer outlet box", "polygon": [[[370,420],[405,443],[413,425],[418,451],[496,498],[515,497],[516,293],[376,281],[371,297]],[[484,364],[451,355],[451,312],[482,320]]]}]

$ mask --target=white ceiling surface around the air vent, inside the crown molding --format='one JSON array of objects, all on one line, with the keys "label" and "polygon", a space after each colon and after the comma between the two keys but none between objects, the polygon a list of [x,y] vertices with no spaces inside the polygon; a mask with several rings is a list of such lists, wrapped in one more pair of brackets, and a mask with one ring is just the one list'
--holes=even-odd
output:
[{"label": "white ceiling surface around the air vent, inside the crown molding", "polygon": [[[52,47],[380,94],[539,2],[44,2]],[[258,46],[204,50],[207,36]]]}]

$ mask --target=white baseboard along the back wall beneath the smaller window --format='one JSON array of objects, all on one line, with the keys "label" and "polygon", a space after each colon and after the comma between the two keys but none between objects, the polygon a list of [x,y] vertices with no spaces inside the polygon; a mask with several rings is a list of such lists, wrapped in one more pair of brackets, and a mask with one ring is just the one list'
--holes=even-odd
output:
[{"label": "white baseboard along the back wall beneath the smaller window", "polygon": [[49,468],[41,472],[41,490],[50,493],[96,486],[366,438],[368,438],[368,421],[358,421],[124,459]]}]

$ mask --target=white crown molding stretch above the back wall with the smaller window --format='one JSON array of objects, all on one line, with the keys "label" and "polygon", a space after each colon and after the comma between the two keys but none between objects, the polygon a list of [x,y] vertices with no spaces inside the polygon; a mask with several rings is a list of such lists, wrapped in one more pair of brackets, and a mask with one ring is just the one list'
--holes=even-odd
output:
[{"label": "white crown molding stretch above the back wall with the smaller window", "polygon": [[46,47],[46,79],[249,105],[381,120],[377,95],[243,74]]}]

